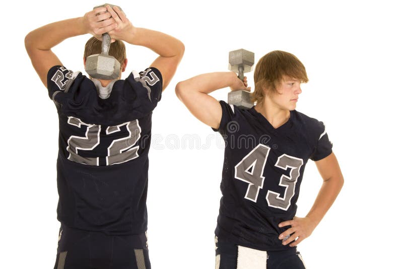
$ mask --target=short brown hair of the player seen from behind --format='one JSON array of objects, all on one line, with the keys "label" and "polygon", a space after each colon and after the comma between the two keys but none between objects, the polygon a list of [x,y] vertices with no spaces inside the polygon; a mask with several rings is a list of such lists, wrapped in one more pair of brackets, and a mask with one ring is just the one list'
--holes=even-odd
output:
[{"label": "short brown hair of the player seen from behind", "polygon": [[[93,36],[85,44],[84,57],[87,58],[90,55],[99,54],[101,51],[102,41]],[[120,64],[122,64],[126,58],[126,46],[124,45],[123,41],[116,40],[115,42],[110,43],[109,55],[115,57]]]}]

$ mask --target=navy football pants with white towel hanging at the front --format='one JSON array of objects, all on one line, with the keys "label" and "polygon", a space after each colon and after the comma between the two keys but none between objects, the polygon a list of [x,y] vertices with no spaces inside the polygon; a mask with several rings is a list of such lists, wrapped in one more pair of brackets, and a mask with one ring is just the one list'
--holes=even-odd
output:
[{"label": "navy football pants with white towel hanging at the front", "polygon": [[219,242],[216,269],[305,269],[305,265],[296,248],[266,252]]}]

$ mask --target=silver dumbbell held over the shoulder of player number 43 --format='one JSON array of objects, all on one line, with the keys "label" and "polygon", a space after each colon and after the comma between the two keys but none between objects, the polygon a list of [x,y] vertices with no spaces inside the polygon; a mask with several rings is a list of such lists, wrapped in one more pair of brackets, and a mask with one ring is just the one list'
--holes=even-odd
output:
[{"label": "silver dumbbell held over the shoulder of player number 43", "polygon": [[[255,62],[255,54],[246,49],[237,49],[229,53],[228,69],[238,73],[238,78],[243,81],[243,74],[250,72]],[[249,109],[253,106],[250,101],[250,92],[245,90],[231,91],[228,93],[228,104],[240,108]]]}]

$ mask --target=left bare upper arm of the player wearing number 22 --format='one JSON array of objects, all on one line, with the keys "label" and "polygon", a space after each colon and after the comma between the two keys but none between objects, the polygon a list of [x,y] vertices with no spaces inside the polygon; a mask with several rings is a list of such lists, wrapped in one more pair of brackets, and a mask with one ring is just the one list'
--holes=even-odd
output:
[{"label": "left bare upper arm of the player wearing number 22", "polygon": [[62,63],[53,51],[33,47],[30,43],[29,34],[25,37],[25,48],[31,58],[32,66],[34,66],[43,85],[47,87],[47,73],[50,68],[54,65],[62,65]]}]

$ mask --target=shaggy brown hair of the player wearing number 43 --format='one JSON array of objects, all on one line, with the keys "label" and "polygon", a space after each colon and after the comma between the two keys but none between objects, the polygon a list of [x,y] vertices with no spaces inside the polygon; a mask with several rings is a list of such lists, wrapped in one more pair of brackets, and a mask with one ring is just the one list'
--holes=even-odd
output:
[{"label": "shaggy brown hair of the player wearing number 43", "polygon": [[294,54],[274,50],[261,57],[253,75],[255,90],[251,95],[251,100],[257,101],[257,103],[262,102],[263,89],[272,93],[276,92],[284,76],[297,79],[301,83],[308,82],[305,66]]}]

